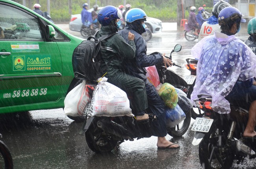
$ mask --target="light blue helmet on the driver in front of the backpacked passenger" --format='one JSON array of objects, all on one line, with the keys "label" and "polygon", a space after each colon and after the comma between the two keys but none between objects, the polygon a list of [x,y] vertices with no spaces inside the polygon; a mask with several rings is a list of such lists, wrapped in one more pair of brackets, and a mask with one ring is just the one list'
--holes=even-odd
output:
[{"label": "light blue helmet on the driver in front of the backpacked passenger", "polygon": [[124,17],[125,21],[129,23],[134,22],[135,20],[145,19],[145,18],[147,18],[146,13],[139,8],[130,9],[129,11],[127,11]]}]

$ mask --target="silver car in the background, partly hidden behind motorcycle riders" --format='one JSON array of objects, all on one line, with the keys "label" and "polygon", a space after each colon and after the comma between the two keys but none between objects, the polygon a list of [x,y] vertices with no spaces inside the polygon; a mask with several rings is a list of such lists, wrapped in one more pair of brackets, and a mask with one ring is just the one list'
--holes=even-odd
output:
[{"label": "silver car in the background, partly hidden behind motorcycle riders", "polygon": [[[103,7],[98,7],[98,11],[100,11],[100,9],[102,8]],[[93,11],[93,8],[89,9],[88,11],[89,12]],[[160,33],[162,31],[162,21],[157,18],[148,17],[147,21],[145,21],[144,23],[152,33]],[[69,29],[71,31],[80,32],[81,28],[82,28],[81,14],[71,15],[71,19],[69,22]]]}]

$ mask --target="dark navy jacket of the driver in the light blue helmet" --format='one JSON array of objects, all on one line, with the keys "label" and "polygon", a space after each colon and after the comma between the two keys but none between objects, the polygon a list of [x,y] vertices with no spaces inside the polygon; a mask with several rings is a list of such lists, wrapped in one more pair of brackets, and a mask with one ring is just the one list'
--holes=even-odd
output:
[{"label": "dark navy jacket of the driver in the light blue helmet", "polygon": [[[134,31],[133,29],[130,29],[128,26],[126,26],[125,29],[119,31],[118,33],[122,35],[122,37],[124,37],[126,42],[128,42],[129,31],[134,34],[134,42],[135,44],[137,44],[137,46],[135,60],[125,61],[126,69],[129,74],[136,77],[138,77],[136,74],[146,75],[145,67],[160,64],[161,62],[163,62],[163,57],[161,56],[161,54],[147,56],[147,45],[145,40],[141,35],[139,35],[139,33]],[[145,76],[143,76],[143,78],[145,78]]]}]

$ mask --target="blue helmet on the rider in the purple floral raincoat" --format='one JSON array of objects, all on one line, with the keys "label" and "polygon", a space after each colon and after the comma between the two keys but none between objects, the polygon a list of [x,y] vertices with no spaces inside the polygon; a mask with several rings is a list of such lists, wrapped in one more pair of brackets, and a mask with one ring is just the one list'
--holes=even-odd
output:
[{"label": "blue helmet on the rider in the purple floral raincoat", "polygon": [[246,22],[242,18],[242,13],[235,7],[225,7],[222,9],[218,16],[219,25],[226,25],[228,22]]}]

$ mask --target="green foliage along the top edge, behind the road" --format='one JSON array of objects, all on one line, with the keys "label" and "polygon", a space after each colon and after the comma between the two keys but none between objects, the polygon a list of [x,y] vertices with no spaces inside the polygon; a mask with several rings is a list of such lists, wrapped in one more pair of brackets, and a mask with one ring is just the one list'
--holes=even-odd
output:
[{"label": "green foliage along the top edge, behind the road", "polygon": [[[22,0],[14,0],[22,4]],[[237,0],[230,0],[237,1]],[[46,0],[26,0],[28,3],[38,3],[42,6],[41,10],[46,11]],[[82,4],[86,0],[72,0],[72,14],[78,14],[82,11]],[[112,5],[118,7],[123,4],[124,0],[90,0],[91,7],[97,2],[98,6]],[[177,18],[177,0],[126,0],[126,4],[131,4],[132,8],[139,7],[143,9],[149,17],[159,18],[162,21],[170,22]],[[209,9],[212,8],[212,0],[195,0],[195,6],[198,8],[206,4]],[[188,8],[186,8],[188,9]],[[188,17],[188,10],[185,11]],[[50,0],[50,15],[55,22],[69,22],[70,14],[68,0]]]}]

